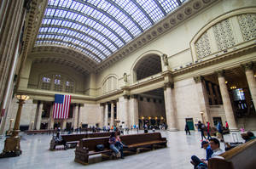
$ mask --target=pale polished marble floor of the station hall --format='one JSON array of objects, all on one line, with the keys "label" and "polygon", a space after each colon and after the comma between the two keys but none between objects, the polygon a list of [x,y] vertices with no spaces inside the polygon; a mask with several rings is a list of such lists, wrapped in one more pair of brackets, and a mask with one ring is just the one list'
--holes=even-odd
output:
[{"label": "pale polished marble floor of the station hall", "polygon": [[[140,131],[143,132],[143,131]],[[157,131],[158,132],[158,131]],[[130,132],[131,133],[131,132]],[[242,141],[240,132],[235,132],[239,141]],[[254,132],[255,134],[256,132]],[[162,137],[168,140],[167,148],[155,149],[140,153],[138,155],[128,155],[125,159],[102,160],[102,155],[90,156],[90,164],[83,166],[74,162],[74,149],[49,151],[49,140],[52,136],[46,134],[26,135],[20,133],[20,146],[22,155],[19,157],[0,159],[1,169],[190,169],[191,155],[205,157],[205,150],[201,149],[201,138],[199,132],[161,132]],[[4,139],[0,139],[0,149],[3,149]],[[227,142],[233,142],[231,134],[224,135]],[[224,144],[221,144],[224,149]]]}]

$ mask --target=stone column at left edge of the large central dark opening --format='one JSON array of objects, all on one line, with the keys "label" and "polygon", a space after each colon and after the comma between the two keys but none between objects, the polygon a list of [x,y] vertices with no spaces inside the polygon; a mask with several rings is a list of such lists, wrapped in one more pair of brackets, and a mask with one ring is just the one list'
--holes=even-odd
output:
[{"label": "stone column at left edge of the large central dark opening", "polygon": [[131,122],[130,126],[132,125],[138,125],[138,101],[137,101],[137,94],[131,95],[130,100],[130,108],[131,108]]}]

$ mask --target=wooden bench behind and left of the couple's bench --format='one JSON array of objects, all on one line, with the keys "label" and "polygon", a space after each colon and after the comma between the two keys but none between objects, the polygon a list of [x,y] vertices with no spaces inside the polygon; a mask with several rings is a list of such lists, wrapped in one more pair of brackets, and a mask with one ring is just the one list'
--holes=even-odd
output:
[{"label": "wooden bench behind and left of the couple's bench", "polygon": [[[84,134],[67,134],[67,135],[61,135],[61,138],[63,140],[65,140],[67,144],[71,145],[70,148],[75,148],[76,144],[79,143],[80,139],[109,137],[110,134],[111,134],[111,132],[93,132],[93,133],[84,133]],[[58,145],[62,145],[62,144],[55,143],[55,139],[54,139],[54,136],[53,136],[52,139],[50,140],[50,143],[49,143],[49,149],[50,150],[55,150],[55,147],[58,146]]]}]

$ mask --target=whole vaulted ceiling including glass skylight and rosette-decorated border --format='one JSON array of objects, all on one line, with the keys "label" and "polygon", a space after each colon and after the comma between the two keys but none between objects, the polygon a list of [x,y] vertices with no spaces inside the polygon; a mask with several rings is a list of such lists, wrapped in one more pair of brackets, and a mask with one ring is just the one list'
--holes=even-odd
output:
[{"label": "whole vaulted ceiling including glass skylight and rosette-decorated border", "polygon": [[101,71],[216,1],[49,0],[31,53],[73,51]]}]

